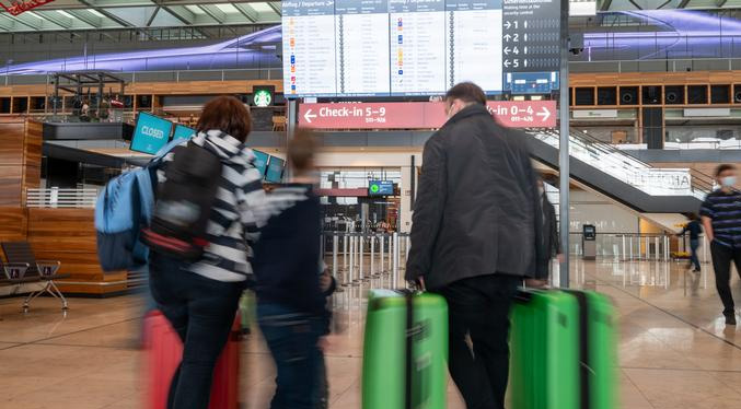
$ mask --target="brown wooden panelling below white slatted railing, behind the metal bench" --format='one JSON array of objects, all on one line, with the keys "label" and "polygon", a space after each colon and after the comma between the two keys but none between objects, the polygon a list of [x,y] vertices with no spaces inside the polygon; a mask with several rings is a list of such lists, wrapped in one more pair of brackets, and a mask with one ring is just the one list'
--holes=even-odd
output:
[{"label": "brown wooden panelling below white slatted railing, behind the metal bench", "polygon": [[[28,209],[28,242],[39,259],[61,261],[65,292],[105,294],[123,291],[126,272],[104,273],[97,261],[93,209]],[[63,284],[69,281],[69,284]]]}]

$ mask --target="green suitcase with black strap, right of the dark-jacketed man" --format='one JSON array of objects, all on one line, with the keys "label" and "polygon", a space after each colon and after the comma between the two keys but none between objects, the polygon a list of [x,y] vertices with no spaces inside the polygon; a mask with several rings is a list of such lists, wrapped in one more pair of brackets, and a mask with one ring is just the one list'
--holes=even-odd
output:
[{"label": "green suitcase with black strap, right of the dark-jacketed man", "polygon": [[614,409],[613,306],[584,291],[522,291],[512,307],[512,409]]}]

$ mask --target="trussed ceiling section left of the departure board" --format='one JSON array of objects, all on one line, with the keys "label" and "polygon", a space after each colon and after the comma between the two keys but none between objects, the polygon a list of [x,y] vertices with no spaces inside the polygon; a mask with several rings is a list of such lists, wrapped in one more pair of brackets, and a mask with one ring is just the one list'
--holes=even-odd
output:
[{"label": "trussed ceiling section left of the departure board", "polygon": [[19,15],[0,12],[0,33],[264,25],[280,22],[280,1],[56,0]]}]

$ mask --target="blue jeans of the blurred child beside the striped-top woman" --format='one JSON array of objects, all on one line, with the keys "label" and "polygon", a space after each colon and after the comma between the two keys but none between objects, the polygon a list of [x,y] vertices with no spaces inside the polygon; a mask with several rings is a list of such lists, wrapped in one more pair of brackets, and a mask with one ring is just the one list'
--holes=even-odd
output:
[{"label": "blue jeans of the blurred child beside the striped-top woman", "polygon": [[257,304],[257,319],[276,363],[270,409],[315,409],[320,398],[317,347],[322,322],[279,304]]}]

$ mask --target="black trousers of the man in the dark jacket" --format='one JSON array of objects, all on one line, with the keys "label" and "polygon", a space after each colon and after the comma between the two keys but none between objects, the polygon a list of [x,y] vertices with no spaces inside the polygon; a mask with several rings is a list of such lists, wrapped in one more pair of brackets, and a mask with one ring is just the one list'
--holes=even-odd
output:
[{"label": "black trousers of the man in the dark jacket", "polygon": [[521,277],[481,276],[439,291],[448,302],[448,365],[467,409],[505,408],[509,312],[521,283]]}]

